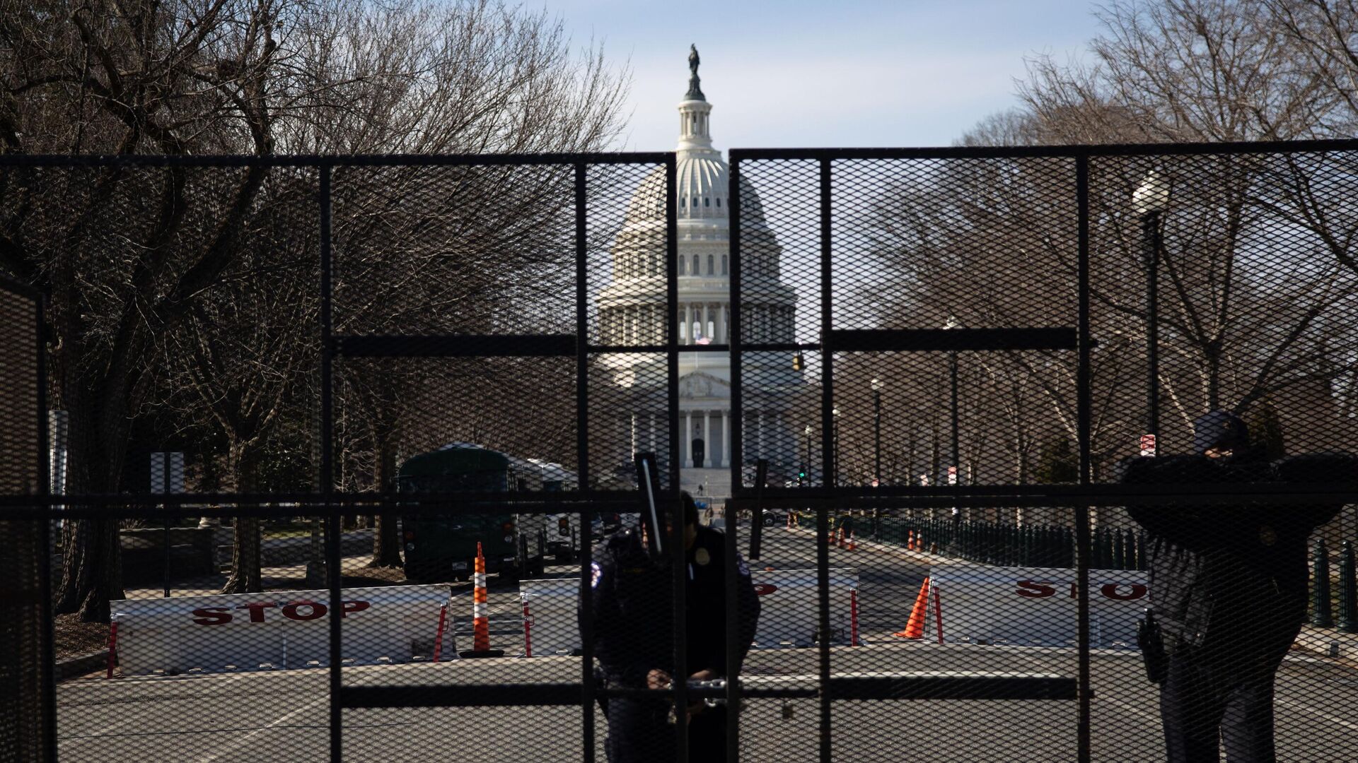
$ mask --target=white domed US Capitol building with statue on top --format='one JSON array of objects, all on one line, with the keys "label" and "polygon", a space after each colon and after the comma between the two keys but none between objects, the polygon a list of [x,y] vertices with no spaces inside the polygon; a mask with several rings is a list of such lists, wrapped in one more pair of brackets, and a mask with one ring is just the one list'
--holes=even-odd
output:
[{"label": "white domed US Capitol building with statue on top", "polygon": [[[689,92],[679,103],[678,229],[679,343],[724,345],[731,326],[729,168],[712,147],[712,103],[698,80],[698,52],[689,54]],[[611,280],[598,296],[606,345],[664,342],[664,167],[652,171],[627,204],[626,219],[611,248]],[[754,189],[741,183],[741,253],[746,342],[793,342],[797,295],[781,281],[782,247],[765,221]],[[650,451],[665,467],[665,357],[660,353],[611,354],[600,358],[622,405],[608,422],[611,437],[630,443],[629,452]],[[744,354],[744,458],[769,459],[770,483],[796,471],[804,422],[788,409],[804,388],[792,356]],[[596,409],[599,410],[599,409]],[[731,494],[731,358],[724,352],[679,353],[679,440],[682,483],[694,496]],[[618,452],[617,445],[608,448]]]}]

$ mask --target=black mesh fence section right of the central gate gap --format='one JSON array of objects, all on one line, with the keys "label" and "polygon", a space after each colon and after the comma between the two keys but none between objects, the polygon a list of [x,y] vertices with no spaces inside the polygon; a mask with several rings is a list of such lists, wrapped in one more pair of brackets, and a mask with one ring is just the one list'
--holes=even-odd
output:
[{"label": "black mesh fence section right of the central gate gap", "polygon": [[[1336,548],[1355,527],[1355,148],[732,151],[733,452],[770,463],[767,483],[733,470],[735,505],[801,509],[822,589],[853,566],[860,611],[896,606],[869,644],[933,642],[892,658],[990,692],[983,732],[944,692],[913,744],[1354,755],[1342,724],[1316,725],[1340,669],[1316,656],[1353,645],[1298,629],[1306,536]],[[1195,422],[1213,410],[1248,441],[1213,440]],[[902,547],[904,587],[881,555]],[[1152,601],[1176,650],[1160,702],[1135,649]],[[822,595],[822,627],[831,611]],[[881,660],[822,645],[819,677]],[[1076,679],[1074,702],[1001,702],[1027,671]],[[830,694],[820,759],[899,752],[862,730],[899,705]]]}]

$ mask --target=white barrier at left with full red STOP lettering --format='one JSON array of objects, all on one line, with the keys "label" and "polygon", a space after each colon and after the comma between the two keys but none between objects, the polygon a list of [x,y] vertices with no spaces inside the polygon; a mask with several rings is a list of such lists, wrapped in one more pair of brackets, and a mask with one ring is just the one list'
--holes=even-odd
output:
[{"label": "white barrier at left with full red STOP lettering", "polygon": [[[344,596],[346,663],[432,657],[447,585],[346,588]],[[329,591],[268,591],[111,601],[118,664],[124,675],[329,665]]]}]

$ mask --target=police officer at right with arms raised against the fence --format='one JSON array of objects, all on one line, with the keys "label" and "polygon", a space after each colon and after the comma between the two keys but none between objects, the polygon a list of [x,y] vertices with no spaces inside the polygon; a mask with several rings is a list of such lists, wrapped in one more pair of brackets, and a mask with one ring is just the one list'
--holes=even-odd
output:
[{"label": "police officer at right with arms raised against the fence", "polygon": [[[1194,422],[1195,455],[1141,458],[1126,483],[1300,482],[1350,456],[1298,456],[1275,467],[1251,452],[1225,411]],[[1336,479],[1331,477],[1329,481]],[[1274,673],[1306,616],[1306,538],[1340,506],[1137,506],[1150,535],[1152,616],[1143,642],[1169,763],[1274,763]],[[1161,658],[1157,660],[1156,656]],[[1158,664],[1157,664],[1158,663]]]}]

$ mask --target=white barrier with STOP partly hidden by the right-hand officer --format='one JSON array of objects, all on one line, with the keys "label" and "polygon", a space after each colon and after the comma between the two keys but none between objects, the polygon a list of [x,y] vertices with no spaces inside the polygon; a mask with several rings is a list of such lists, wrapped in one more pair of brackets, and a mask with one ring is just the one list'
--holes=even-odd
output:
[{"label": "white barrier with STOP partly hidden by the right-hand officer", "polygon": [[[1074,646],[1076,572],[1062,567],[936,567],[925,638]],[[1089,570],[1090,646],[1135,648],[1137,618],[1150,606],[1146,573]]]}]

